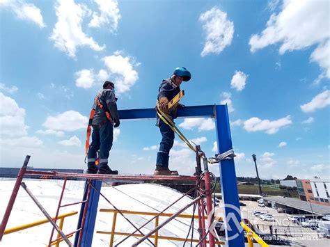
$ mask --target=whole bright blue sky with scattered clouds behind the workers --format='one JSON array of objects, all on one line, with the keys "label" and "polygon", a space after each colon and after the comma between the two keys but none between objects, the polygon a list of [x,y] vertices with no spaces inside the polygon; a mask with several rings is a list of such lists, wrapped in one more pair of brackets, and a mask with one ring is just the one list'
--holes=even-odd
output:
[{"label": "whole bright blue sky with scattered clouds behind the workers", "polygon": [[[329,1],[0,0],[1,166],[86,168],[93,97],[116,84],[119,109],[155,106],[162,79],[187,67],[182,104],[228,104],[236,173],[329,178]],[[176,121],[208,157],[214,120]],[[109,157],[152,174],[155,120],[122,121]],[[170,168],[194,171],[176,138]],[[212,171],[219,175],[217,165]]]}]

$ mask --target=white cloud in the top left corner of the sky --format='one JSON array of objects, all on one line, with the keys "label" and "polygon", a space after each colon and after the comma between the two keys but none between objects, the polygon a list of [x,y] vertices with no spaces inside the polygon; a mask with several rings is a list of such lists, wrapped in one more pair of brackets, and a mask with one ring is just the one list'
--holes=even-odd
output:
[{"label": "white cloud in the top left corner of the sky", "polygon": [[0,8],[12,10],[19,19],[25,19],[34,22],[38,26],[45,27],[41,11],[32,3],[26,3],[24,0],[0,1]]}]

